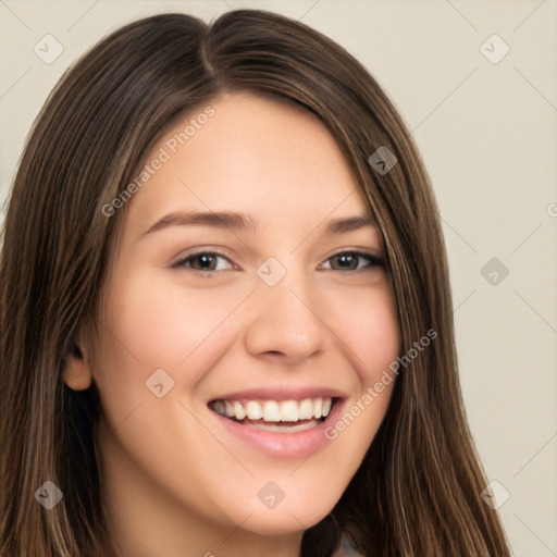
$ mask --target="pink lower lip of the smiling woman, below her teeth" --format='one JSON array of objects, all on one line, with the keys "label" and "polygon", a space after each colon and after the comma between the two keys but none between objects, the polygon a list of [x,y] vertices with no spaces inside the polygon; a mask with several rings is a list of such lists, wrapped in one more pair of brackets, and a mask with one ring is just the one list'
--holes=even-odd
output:
[{"label": "pink lower lip of the smiling woman, below her teeth", "polygon": [[344,400],[337,400],[325,420],[310,430],[285,431],[284,433],[258,430],[225,418],[214,410],[210,410],[210,412],[227,432],[248,445],[269,454],[273,458],[295,459],[307,458],[330,442],[325,436],[325,429],[335,423],[343,406]]}]

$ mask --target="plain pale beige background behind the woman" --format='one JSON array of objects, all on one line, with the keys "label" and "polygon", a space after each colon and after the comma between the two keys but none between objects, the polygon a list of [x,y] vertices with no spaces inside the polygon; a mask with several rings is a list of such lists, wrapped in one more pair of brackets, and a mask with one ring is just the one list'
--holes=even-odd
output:
[{"label": "plain pale beige background behind the woman", "polygon": [[[473,436],[510,494],[499,512],[515,555],[557,555],[557,1],[1,1],[0,203],[33,119],[82,52],[140,16],[240,7],[337,40],[413,131],[444,221]],[[34,52],[47,34],[64,49],[51,64]],[[496,64],[480,50],[493,34],[510,48]],[[492,258],[509,270],[484,271],[495,285],[481,274]]]}]

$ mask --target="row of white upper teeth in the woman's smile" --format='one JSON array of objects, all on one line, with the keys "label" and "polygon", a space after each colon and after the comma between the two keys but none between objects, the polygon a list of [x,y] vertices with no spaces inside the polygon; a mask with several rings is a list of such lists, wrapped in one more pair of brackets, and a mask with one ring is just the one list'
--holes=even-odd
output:
[{"label": "row of white upper teeth in the woman's smile", "polygon": [[237,420],[264,420],[265,422],[297,422],[325,418],[333,399],[305,398],[304,400],[215,400],[211,406],[216,412]]}]

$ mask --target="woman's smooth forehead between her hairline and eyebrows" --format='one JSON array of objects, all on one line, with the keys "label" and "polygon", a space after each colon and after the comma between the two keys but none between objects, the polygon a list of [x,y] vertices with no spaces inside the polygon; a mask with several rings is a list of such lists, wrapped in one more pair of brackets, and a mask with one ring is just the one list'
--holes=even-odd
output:
[{"label": "woman's smooth forehead between her hairline and eyebrows", "polygon": [[146,164],[157,160],[128,207],[133,220],[152,224],[181,209],[242,211],[263,222],[366,212],[325,125],[273,98],[232,92],[200,106],[165,132]]}]

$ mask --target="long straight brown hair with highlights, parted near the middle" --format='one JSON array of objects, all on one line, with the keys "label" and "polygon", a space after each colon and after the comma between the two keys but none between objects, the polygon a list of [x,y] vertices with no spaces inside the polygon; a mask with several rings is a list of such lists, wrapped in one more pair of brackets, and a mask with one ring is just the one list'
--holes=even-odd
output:
[{"label": "long straight brown hair with highlights, parted near the middle", "polygon": [[[435,200],[410,135],[367,70],[320,33],[258,10],[210,25],[185,14],[132,23],[66,74],[36,120],[9,201],[0,267],[0,553],[108,555],[95,426],[98,392],[62,380],[78,333],[95,338],[131,183],[177,119],[224,91],[249,90],[314,113],[354,170],[381,232],[408,359],[367,456],[333,515],[357,524],[368,556],[507,556],[467,424],[446,251]],[[369,159],[386,147],[387,173]],[[94,350],[92,350],[94,352]],[[34,493],[52,481],[47,511]],[[305,532],[315,557],[325,520]]]}]

